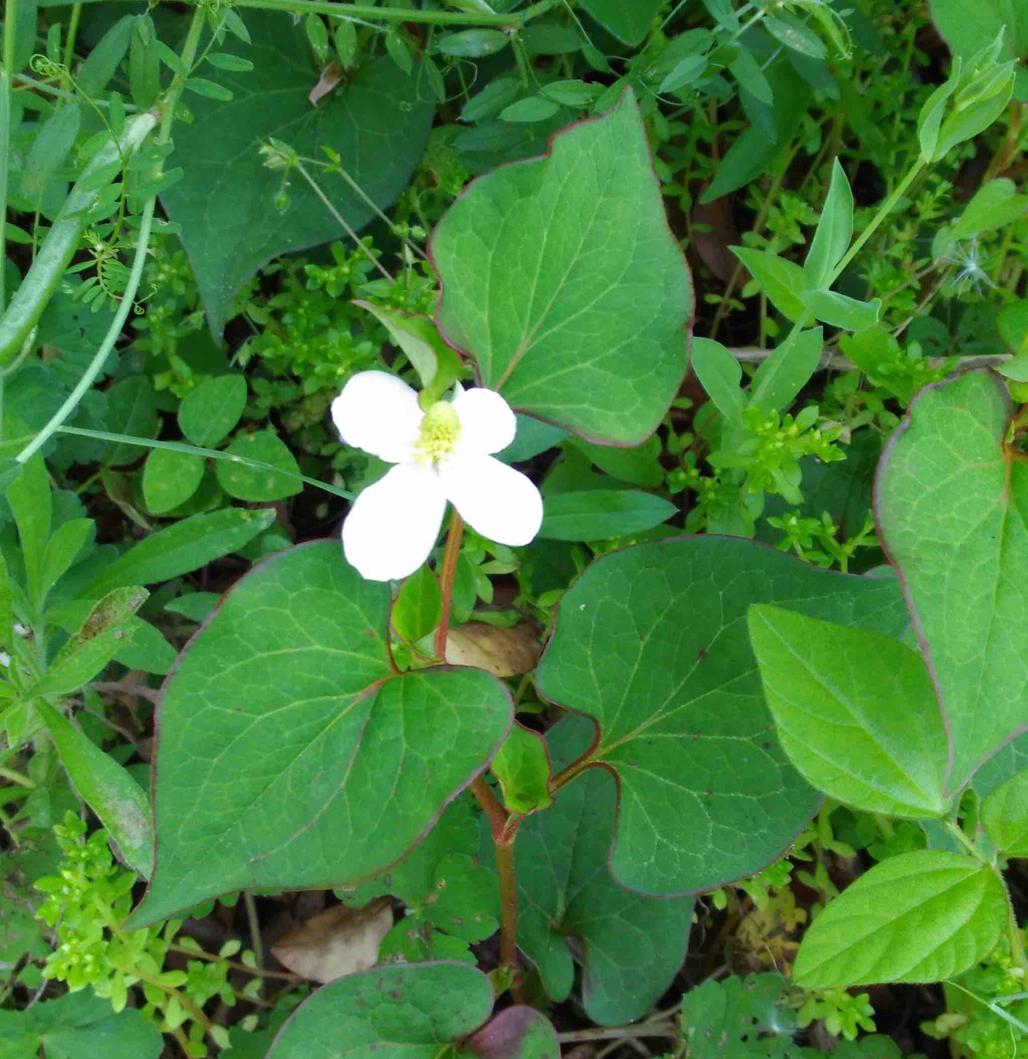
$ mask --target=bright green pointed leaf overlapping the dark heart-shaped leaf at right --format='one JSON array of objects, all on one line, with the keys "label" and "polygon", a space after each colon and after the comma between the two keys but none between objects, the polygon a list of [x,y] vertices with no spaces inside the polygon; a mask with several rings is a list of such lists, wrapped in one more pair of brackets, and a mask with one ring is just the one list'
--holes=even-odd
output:
[{"label": "bright green pointed leaf overlapping the dark heart-shaped leaf at right", "polygon": [[898,640],[750,608],[768,706],[789,759],[866,812],[941,816],[950,743],[921,657]]}]

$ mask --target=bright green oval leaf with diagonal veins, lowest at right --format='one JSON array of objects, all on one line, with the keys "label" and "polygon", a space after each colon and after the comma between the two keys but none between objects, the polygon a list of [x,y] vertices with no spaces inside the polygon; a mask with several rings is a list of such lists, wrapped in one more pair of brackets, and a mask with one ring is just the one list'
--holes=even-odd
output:
[{"label": "bright green oval leaf with diagonal veins, lowest at right", "polygon": [[921,849],[872,867],[814,920],[793,977],[805,989],[941,982],[986,958],[1003,933],[1007,894],[988,866]]}]

